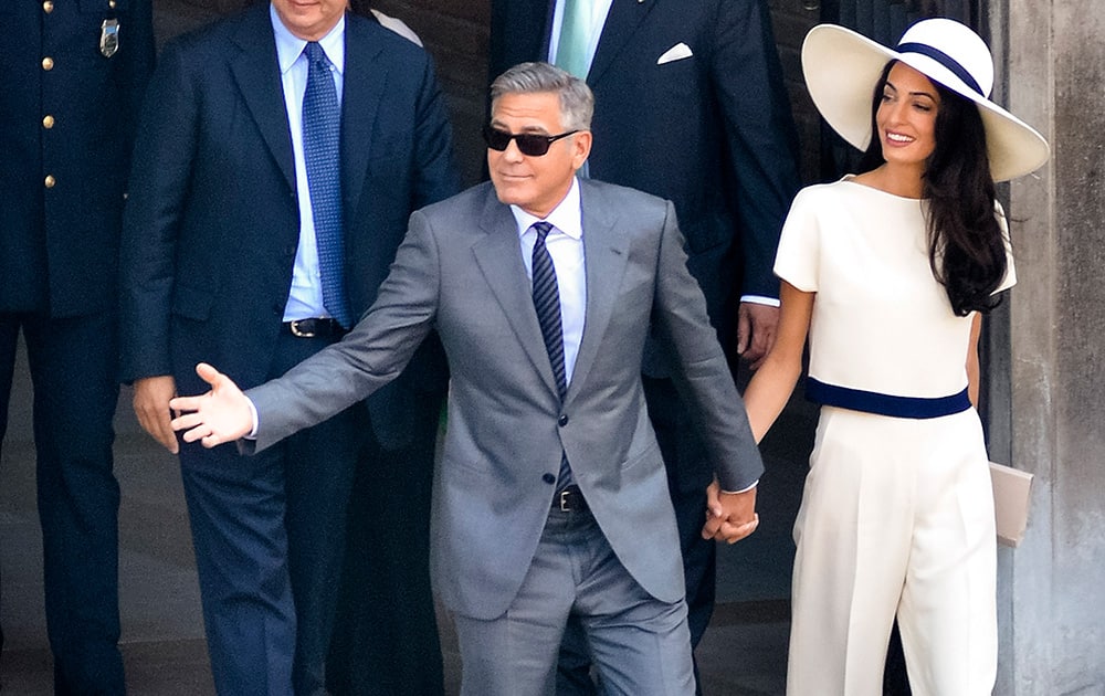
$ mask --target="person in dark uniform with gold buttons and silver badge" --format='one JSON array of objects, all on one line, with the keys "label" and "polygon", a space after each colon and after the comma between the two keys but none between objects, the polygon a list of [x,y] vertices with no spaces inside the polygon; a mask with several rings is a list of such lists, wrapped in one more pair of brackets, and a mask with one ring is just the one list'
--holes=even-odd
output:
[{"label": "person in dark uniform with gold buttons and silver badge", "polygon": [[150,24],[149,0],[0,3],[0,439],[22,330],[60,694],[125,690],[116,278],[135,122],[154,68]]}]

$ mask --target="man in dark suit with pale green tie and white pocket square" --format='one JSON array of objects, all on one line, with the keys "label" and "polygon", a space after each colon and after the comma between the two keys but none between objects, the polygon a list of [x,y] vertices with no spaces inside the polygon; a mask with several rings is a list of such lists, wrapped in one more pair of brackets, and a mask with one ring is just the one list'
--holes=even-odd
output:
[{"label": "man in dark suit with pale green tie and white pocket square", "polygon": [[[778,323],[771,267],[799,186],[767,3],[494,0],[492,74],[533,60],[586,75],[596,103],[589,176],[675,203],[711,320],[730,355],[756,366]],[[669,465],[697,644],[714,605],[716,549],[698,535],[711,468],[669,362],[649,345],[645,394]]]}]

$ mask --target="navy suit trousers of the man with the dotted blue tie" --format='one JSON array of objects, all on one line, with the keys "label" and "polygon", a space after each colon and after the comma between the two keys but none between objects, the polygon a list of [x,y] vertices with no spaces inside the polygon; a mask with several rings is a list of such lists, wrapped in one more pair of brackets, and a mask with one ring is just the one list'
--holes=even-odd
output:
[{"label": "navy suit trousers of the man with the dotted blue tie", "polygon": [[[269,378],[325,347],[282,335]],[[202,393],[178,376],[180,393]],[[356,433],[355,404],[255,456],[182,444],[208,651],[227,696],[312,694],[325,681]]]}]

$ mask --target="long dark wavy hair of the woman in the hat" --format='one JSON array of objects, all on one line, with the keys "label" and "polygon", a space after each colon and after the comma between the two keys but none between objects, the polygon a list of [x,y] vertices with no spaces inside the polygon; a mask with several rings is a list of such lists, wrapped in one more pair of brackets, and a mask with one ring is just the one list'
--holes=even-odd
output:
[{"label": "long dark wavy hair of the woman in the hat", "polygon": [[[891,67],[883,68],[871,107],[871,145],[860,171],[883,165],[875,115]],[[928,200],[928,263],[944,285],[958,316],[989,312],[1000,298],[993,291],[1006,277],[1006,240],[994,217],[996,192],[986,154],[986,130],[978,106],[933,82],[940,95],[936,112],[936,148],[922,177],[922,197]]]}]

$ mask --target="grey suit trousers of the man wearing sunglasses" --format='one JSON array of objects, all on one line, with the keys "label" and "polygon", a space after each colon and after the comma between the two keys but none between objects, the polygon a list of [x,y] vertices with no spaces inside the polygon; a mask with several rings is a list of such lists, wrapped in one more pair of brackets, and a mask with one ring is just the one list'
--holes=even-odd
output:
[{"label": "grey suit trousers of the man wearing sunglasses", "polygon": [[453,614],[462,696],[551,696],[568,618],[579,620],[609,696],[694,694],[684,600],[649,594],[589,512],[549,514],[514,602],[490,621]]}]

